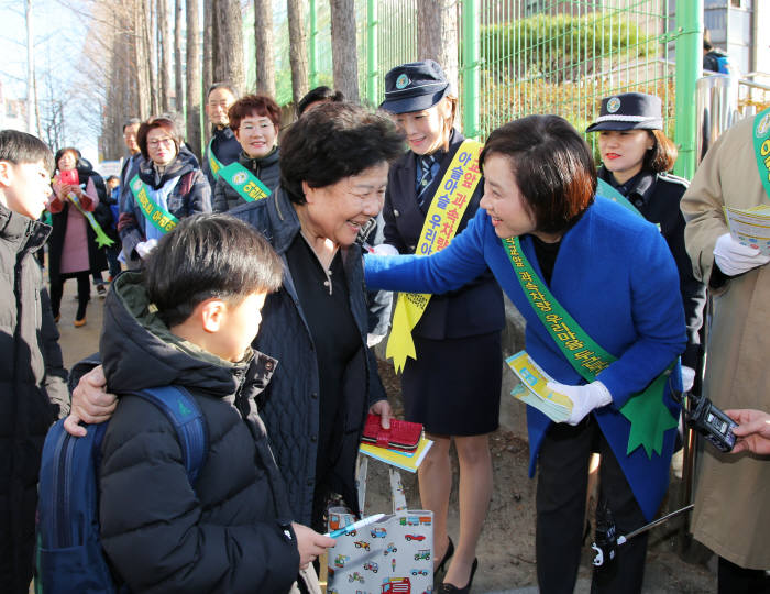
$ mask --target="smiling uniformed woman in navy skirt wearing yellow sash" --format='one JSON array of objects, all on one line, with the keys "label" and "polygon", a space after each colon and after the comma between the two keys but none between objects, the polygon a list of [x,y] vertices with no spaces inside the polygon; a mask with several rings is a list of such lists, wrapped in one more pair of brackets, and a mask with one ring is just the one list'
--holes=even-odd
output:
[{"label": "smiling uniformed woman in navy skirt wearing yellow sash", "polygon": [[[473,155],[477,158],[481,144],[465,141],[454,130],[458,99],[441,67],[431,59],[403,64],[387,73],[381,107],[394,113],[409,151],[388,173],[383,208],[385,239],[375,253],[428,253],[426,237],[432,239],[433,250],[439,250],[451,241],[443,233],[447,226],[457,222],[457,231],[464,229],[479,209],[483,179]],[[452,186],[454,191],[450,193],[447,188]],[[463,201],[466,205],[460,215]],[[446,209],[440,208],[442,202]],[[433,229],[437,232],[431,234]],[[460,539],[442,587],[463,592],[470,590],[477,566],[476,542],[492,496],[488,435],[497,429],[499,420],[503,295],[490,271],[483,270],[459,290],[431,296],[411,329],[416,358],[406,360],[392,351],[403,307],[396,304],[388,356],[394,354],[397,369],[399,362],[404,365],[406,419],[422,424],[433,441],[420,465],[419,483],[422,507],[433,512],[437,572],[454,552],[447,534],[452,441],[458,451]]]}]

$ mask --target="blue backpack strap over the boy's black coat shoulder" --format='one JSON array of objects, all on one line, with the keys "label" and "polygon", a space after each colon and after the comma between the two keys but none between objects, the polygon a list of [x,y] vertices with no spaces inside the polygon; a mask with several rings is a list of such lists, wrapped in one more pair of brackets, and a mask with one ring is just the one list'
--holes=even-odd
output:
[{"label": "blue backpack strap over the boy's black coat shoulder", "polygon": [[131,394],[152,403],[168,417],[179,438],[187,477],[195,486],[209,449],[208,428],[196,399],[179,386],[145,388]]}]

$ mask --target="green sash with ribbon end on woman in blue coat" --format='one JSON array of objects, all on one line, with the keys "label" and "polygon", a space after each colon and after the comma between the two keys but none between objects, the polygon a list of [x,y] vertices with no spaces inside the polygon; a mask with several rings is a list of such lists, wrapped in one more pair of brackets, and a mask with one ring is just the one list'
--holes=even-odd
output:
[{"label": "green sash with ribbon end on woman in blue coat", "polygon": [[[507,238],[502,241],[521,290],[548,330],[548,334],[574,370],[586,382],[593,382],[598,373],[617,361],[617,358],[597,344],[557,301],[527,260],[519,239]],[[634,394],[620,408],[623,416],[631,424],[626,455],[630,455],[639,446],[645,447],[650,459],[653,451],[662,454],[663,433],[676,427],[676,419],[663,404],[663,392],[670,372],[671,367],[653,380],[646,389]]]}]

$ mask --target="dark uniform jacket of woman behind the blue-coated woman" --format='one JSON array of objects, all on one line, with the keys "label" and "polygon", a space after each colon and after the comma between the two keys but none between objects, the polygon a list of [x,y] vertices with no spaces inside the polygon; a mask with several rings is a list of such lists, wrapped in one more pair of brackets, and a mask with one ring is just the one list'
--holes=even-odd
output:
[{"label": "dark uniform jacket of woman behind the blue-coated woman", "polygon": [[688,349],[682,354],[682,365],[695,369],[701,345],[698,331],[703,324],[706,288],[693,275],[693,266],[684,249],[684,217],[679,209],[679,202],[690,184],[675,175],[642,170],[624,188],[617,186],[612,172],[605,167],[600,167],[598,176],[626,196],[645,219],[658,224],[660,233],[669,244],[679,271],[679,288],[688,324]]}]

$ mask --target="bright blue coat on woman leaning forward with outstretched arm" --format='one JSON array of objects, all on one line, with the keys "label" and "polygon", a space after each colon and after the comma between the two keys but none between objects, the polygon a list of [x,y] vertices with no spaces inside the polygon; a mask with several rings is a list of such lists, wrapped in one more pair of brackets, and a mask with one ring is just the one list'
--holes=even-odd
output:
[{"label": "bright blue coat on woman leaning forward with outstretched arm", "polygon": [[[521,245],[542,277],[531,238],[524,235]],[[529,305],[484,210],[480,209],[465,231],[435,255],[367,255],[366,284],[370,288],[443,293],[475,278],[485,266],[527,320],[529,355],[558,382],[585,384]],[[656,226],[597,197],[562,238],[550,289],[583,330],[617,358],[597,376],[613,395],[613,404],[593,415],[649,519],[668,487],[675,430],[666,432],[661,455],[652,453],[648,458],[644,448],[627,455],[630,422],[619,409],[666,370],[686,344],[679,275],[671,252]],[[664,402],[678,415],[668,389]],[[548,417],[527,407],[530,476],[550,425]]]}]

